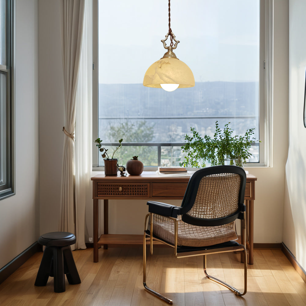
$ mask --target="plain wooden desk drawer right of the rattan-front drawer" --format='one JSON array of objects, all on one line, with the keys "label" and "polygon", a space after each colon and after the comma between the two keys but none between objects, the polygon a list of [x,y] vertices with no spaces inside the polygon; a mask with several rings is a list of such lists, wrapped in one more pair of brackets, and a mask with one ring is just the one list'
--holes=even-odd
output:
[{"label": "plain wooden desk drawer right of the rattan-front drawer", "polygon": [[183,198],[188,183],[152,183],[152,197]]}]

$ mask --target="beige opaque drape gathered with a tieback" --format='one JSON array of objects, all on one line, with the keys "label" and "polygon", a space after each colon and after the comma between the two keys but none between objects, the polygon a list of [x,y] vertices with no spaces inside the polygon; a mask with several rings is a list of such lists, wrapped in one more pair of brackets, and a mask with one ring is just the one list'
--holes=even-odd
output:
[{"label": "beige opaque drape gathered with a tieback", "polygon": [[[84,24],[85,0],[62,0],[62,61],[65,91],[65,132],[59,230],[76,234],[75,147],[76,91]],[[78,238],[77,238],[78,239]],[[76,244],[76,248],[78,244]]]}]

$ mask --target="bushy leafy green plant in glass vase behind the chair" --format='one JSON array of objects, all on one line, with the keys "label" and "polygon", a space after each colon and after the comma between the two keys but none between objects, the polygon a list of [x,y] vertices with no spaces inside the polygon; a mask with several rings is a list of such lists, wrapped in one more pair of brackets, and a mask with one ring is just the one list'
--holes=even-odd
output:
[{"label": "bushy leafy green plant in glass vase behind the chair", "polygon": [[233,136],[233,130],[229,123],[220,129],[216,121],[216,131],[213,137],[204,135],[201,137],[199,132],[191,128],[192,136],[185,136],[186,144],[181,147],[182,152],[186,154],[181,166],[187,167],[205,167],[205,161],[211,163],[211,166],[224,165],[225,159],[236,161],[236,165],[243,167],[243,163],[252,155],[251,145],[256,140],[252,137],[254,129],[248,129],[244,135]]}]

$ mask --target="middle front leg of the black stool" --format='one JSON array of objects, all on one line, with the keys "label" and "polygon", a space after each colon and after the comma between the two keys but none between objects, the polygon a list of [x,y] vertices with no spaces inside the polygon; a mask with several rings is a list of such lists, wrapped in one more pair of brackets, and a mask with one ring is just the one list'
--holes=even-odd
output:
[{"label": "middle front leg of the black stool", "polygon": [[65,291],[64,256],[62,247],[53,248],[54,292]]}]

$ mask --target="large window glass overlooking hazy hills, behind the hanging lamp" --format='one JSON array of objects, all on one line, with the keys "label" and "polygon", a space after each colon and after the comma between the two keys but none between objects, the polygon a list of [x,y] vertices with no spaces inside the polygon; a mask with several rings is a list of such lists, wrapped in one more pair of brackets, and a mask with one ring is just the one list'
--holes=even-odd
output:
[{"label": "large window glass overlooking hazy hills, behind the hanging lamp", "polygon": [[[145,166],[177,166],[190,128],[212,136],[216,121],[220,127],[231,122],[237,135],[255,128],[263,146],[262,3],[171,2],[171,28],[180,40],[175,54],[190,67],[196,85],[166,92],[142,82],[166,51],[160,40],[168,31],[168,1],[97,0],[97,136],[106,147],[123,138],[115,156],[120,164],[138,155]],[[262,165],[259,144],[251,150],[249,162]],[[98,155],[94,163],[101,166]]]}]

